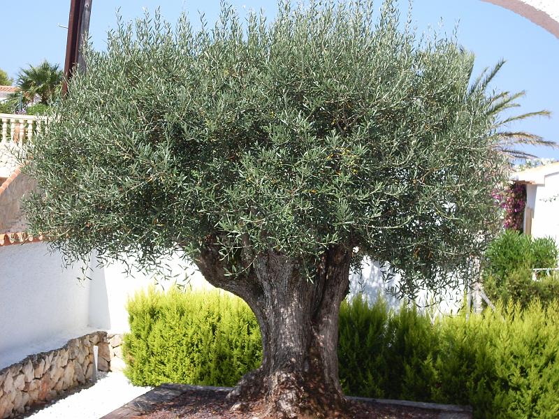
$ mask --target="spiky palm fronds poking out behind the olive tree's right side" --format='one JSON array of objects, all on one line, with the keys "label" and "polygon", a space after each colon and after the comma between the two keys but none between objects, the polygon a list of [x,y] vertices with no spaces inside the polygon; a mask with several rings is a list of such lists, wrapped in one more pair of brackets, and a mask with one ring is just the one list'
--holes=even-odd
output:
[{"label": "spiky palm fronds poking out behind the olive tree's right side", "polygon": [[[493,78],[495,78],[495,75],[497,75],[503,65],[504,60],[501,60],[493,68],[491,68],[491,70],[486,68],[470,86],[470,93],[476,91],[477,89],[486,90],[488,84],[491,80],[493,80]],[[539,110],[537,112],[528,112],[504,118],[500,117],[503,110],[518,108],[520,105],[516,102],[516,100],[518,98],[522,98],[523,96],[525,96],[525,91],[519,91],[518,93],[502,91],[491,96],[491,101],[488,103],[488,108],[486,110],[488,115],[493,115],[493,138],[495,138],[493,145],[498,152],[507,156],[511,163],[517,159],[529,159],[536,157],[534,154],[530,154],[516,148],[518,145],[537,145],[553,148],[558,147],[556,142],[544,140],[544,138],[539,135],[525,131],[509,131],[507,126],[509,126],[512,122],[532,117],[551,116],[551,112],[549,112],[549,110]]]}]

